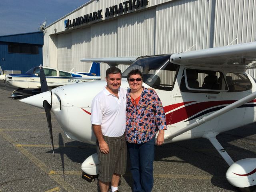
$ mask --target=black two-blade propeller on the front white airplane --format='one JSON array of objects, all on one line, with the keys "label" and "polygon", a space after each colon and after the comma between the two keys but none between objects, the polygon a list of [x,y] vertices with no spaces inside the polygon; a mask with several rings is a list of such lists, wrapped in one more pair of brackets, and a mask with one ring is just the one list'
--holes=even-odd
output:
[{"label": "black two-blade propeller on the front white airplane", "polygon": [[[41,92],[46,92],[49,89],[48,89],[48,86],[47,86],[46,77],[45,77],[42,65],[40,65],[39,75],[40,75],[40,83],[41,83]],[[43,101],[43,107],[44,107],[45,114],[46,114],[46,119],[47,119],[47,123],[48,123],[50,138],[51,138],[51,142],[52,142],[52,152],[53,152],[53,155],[54,155],[54,145],[53,145],[53,137],[52,137],[52,120],[51,120],[52,106],[51,106],[51,104],[48,103],[47,100],[44,100]]]}]

